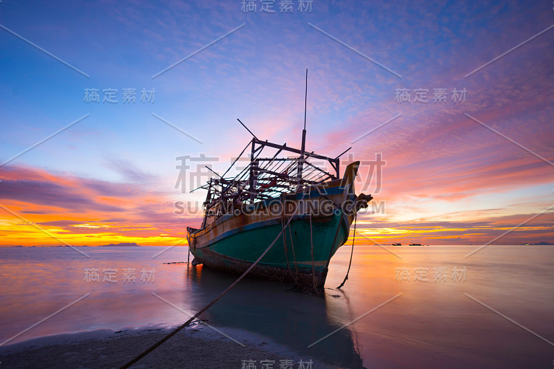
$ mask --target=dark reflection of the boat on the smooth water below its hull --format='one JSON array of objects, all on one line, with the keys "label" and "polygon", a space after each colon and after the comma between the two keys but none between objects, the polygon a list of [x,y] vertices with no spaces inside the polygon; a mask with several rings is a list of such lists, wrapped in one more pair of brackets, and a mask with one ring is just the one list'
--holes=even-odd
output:
[{"label": "dark reflection of the boat on the smooth water below its hull", "polygon": [[[187,282],[193,283],[193,289],[203,295],[199,300],[206,301],[235,280],[233,275],[200,266],[189,269],[187,278]],[[321,298],[300,294],[291,287],[284,282],[244,278],[202,318],[215,326],[224,325],[267,336],[288,346],[300,357],[305,354],[341,367],[364,368],[348,327],[308,348],[341,327],[332,319],[333,311],[348,312],[348,300],[341,291],[325,289],[325,296]]]}]

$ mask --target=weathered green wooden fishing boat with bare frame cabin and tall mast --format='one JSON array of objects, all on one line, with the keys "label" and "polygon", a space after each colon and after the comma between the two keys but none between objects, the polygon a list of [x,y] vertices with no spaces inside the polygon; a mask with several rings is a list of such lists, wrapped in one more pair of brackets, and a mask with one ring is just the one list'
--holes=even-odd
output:
[{"label": "weathered green wooden fishing boat with bare frame cabin and tall mast", "polygon": [[[359,161],[341,176],[339,157],[350,148],[334,158],[305,150],[305,114],[300,149],[262,141],[238,121],[252,138],[223,175],[198,188],[207,195],[202,225],[187,227],[193,266],[242,274],[263,255],[249,276],[321,290],[357,211],[373,199],[355,194]],[[249,164],[226,177],[248,148]]]}]

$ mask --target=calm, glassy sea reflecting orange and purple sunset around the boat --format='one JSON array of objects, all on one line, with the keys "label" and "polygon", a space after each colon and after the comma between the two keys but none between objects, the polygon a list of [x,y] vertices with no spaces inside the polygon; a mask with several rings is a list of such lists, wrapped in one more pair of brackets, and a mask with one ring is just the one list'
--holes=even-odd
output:
[{"label": "calm, glassy sea reflecting orange and purple sunset around the boat", "polygon": [[[553,368],[554,246],[488,246],[464,258],[476,247],[393,246],[394,255],[355,246],[337,290],[350,258],[343,246],[325,298],[247,278],[202,318],[349,368]],[[0,249],[0,342],[64,307],[9,343],[179,325],[236,278],[164,264],[186,261],[186,247],[156,258],[163,248],[79,249],[90,258],[69,248]]]}]

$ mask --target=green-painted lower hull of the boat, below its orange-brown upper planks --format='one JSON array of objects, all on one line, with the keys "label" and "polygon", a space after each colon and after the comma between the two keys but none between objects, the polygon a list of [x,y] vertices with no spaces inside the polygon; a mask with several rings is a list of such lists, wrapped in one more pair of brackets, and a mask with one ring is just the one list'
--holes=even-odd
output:
[{"label": "green-painted lower hull of the boat, below its orange-brown upper planks", "polygon": [[[279,220],[279,219],[278,219]],[[231,273],[244,273],[253,262],[276,240],[267,254],[250,272],[251,276],[271,280],[301,282],[323,288],[327,276],[328,260],[348,239],[348,217],[330,215],[296,216],[278,237],[280,222],[260,222],[250,229],[233,233],[201,248],[191,248],[198,263]],[[313,263],[312,263],[313,240]],[[312,277],[312,271],[315,278]]]}]

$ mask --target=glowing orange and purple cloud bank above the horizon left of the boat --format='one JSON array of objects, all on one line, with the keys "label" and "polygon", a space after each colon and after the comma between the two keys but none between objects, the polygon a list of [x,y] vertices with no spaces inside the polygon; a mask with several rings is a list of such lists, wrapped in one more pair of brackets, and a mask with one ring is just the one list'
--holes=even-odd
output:
[{"label": "glowing orange and purple cloud bank above the horizon left of the boat", "polygon": [[113,242],[168,245],[186,235],[186,219],[172,213],[167,195],[136,183],[109,183],[20,167],[2,168],[0,176],[0,204],[18,215],[0,209],[2,244],[60,244],[41,229],[69,244],[89,246]]}]

